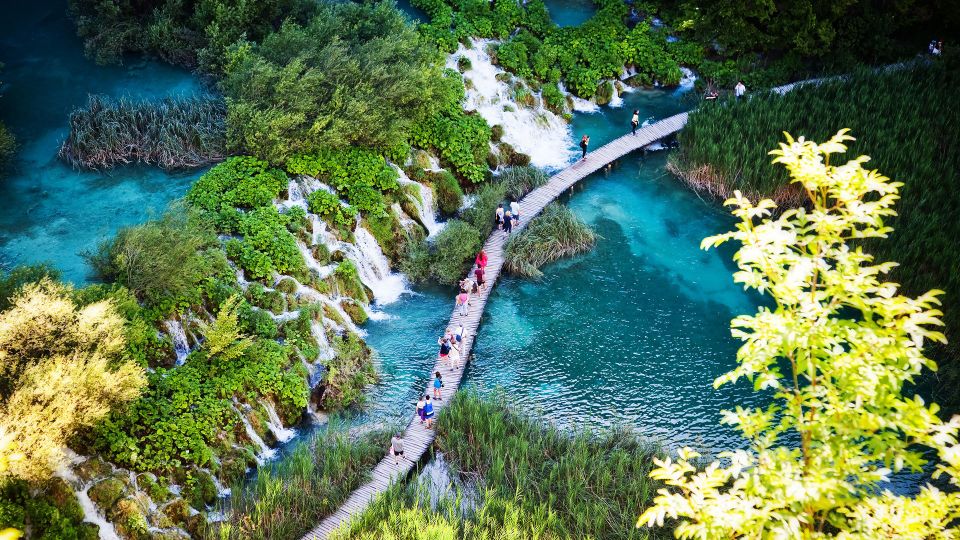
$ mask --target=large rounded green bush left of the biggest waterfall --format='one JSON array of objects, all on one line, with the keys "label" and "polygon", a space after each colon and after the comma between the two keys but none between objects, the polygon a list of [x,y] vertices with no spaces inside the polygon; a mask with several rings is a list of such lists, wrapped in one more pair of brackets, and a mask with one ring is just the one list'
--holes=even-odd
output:
[{"label": "large rounded green bush left of the biggest waterfall", "polygon": [[388,3],[319,3],[259,44],[230,48],[228,144],[279,163],[325,147],[389,153],[443,103],[436,50]]}]

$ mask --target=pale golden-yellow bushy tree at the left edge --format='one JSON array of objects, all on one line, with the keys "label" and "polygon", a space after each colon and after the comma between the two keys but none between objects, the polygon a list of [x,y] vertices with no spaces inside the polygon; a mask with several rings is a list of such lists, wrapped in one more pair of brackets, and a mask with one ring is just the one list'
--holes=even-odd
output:
[{"label": "pale golden-yellow bushy tree at the left edge", "polygon": [[109,300],[78,308],[48,279],[0,313],[0,433],[9,441],[0,474],[49,477],[77,429],[139,395],[146,380],[123,358],[123,327]]}]

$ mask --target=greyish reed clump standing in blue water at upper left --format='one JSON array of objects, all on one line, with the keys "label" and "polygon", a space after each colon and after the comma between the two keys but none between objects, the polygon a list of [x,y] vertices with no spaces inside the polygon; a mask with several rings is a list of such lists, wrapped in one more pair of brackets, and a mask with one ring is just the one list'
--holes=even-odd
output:
[{"label": "greyish reed clump standing in blue water at upper left", "polygon": [[70,113],[59,157],[79,169],[147,163],[202,167],[226,157],[226,108],[213,96],[110,100],[91,95]]}]

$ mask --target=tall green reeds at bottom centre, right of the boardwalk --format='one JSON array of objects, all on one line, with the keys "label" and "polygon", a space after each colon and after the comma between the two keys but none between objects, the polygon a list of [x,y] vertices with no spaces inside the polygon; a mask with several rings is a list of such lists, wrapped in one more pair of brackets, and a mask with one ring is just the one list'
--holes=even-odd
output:
[{"label": "tall green reeds at bottom centre, right of the boardwalk", "polygon": [[647,478],[658,450],[629,431],[571,435],[510,410],[505,398],[461,391],[439,416],[437,444],[461,480],[482,479],[478,508],[448,501],[431,510],[413,483],[387,493],[339,538],[651,536],[634,525],[658,487]]}]

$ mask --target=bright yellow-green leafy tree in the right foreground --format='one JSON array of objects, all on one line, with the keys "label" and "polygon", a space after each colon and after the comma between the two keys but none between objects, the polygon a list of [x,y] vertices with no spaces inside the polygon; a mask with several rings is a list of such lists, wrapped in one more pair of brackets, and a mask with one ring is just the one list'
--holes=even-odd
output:
[{"label": "bright yellow-green leafy tree in the right foreground", "polygon": [[[811,209],[774,219],[773,201],[753,205],[739,191],[727,201],[741,222],[704,247],[742,244],[734,279],[769,293],[772,308],[731,324],[744,342],[739,365],[715,386],[741,378],[772,391],[767,408],[724,411],[723,422],[747,439],[748,450],[725,452],[722,464],[698,469],[698,454],[658,460],[661,489],[640,523],[679,520],[680,538],[946,538],[960,516],[960,416],[937,417],[936,404],[905,397],[921,370],[936,369],[925,342],[944,342],[935,308],[942,291],[917,298],[883,281],[896,263],[874,263],[850,240],[882,238],[892,229],[899,182],[863,168],[859,157],[830,165],[852,140],[846,130],[816,144],[781,143],[786,166]],[[783,373],[786,368],[786,373]],[[882,489],[892,473],[920,471],[936,453],[934,477],[915,496]]]}]

